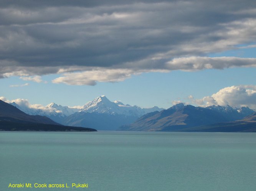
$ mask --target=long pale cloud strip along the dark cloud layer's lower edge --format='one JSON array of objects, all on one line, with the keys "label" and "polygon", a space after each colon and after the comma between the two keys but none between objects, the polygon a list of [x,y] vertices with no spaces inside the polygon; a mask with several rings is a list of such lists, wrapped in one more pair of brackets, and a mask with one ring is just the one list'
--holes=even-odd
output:
[{"label": "long pale cloud strip along the dark cloud layer's lower edge", "polygon": [[[233,67],[255,67],[256,58],[237,58],[237,57],[186,57],[175,58],[165,65],[157,65],[155,61],[143,60],[139,65],[151,63],[147,70],[134,69],[105,69],[105,68],[88,68],[84,72],[66,72],[76,70],[76,68],[63,69],[63,76],[53,79],[53,83],[65,83],[69,85],[89,85],[94,86],[97,82],[119,82],[130,78],[132,75],[138,75],[145,72],[169,72],[172,70],[197,71],[205,69],[224,69]],[[129,63],[126,63],[129,65]],[[66,72],[66,73],[65,73]],[[24,78],[24,77],[21,77]],[[26,77],[25,77],[26,78]]]}]

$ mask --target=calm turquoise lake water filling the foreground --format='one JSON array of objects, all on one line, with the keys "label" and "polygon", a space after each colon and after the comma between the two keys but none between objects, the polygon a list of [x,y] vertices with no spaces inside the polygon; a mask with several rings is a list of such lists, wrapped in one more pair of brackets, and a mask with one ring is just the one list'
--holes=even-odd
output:
[{"label": "calm turquoise lake water filling the foreground", "polygon": [[0,191],[256,190],[256,133],[1,132],[0,155]]}]

